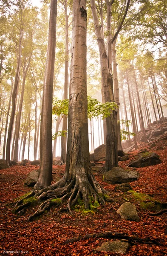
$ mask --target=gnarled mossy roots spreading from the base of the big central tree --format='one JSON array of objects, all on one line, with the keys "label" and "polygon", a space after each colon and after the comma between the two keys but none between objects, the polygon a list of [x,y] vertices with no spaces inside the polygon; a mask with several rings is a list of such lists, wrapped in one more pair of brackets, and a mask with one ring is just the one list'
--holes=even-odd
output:
[{"label": "gnarled mossy roots spreading from the base of the big central tree", "polygon": [[[36,204],[40,203],[36,212],[28,218],[28,221],[32,221],[52,205],[58,206],[63,201],[66,201],[67,204],[64,210],[72,214],[71,207],[77,204],[79,198],[82,198],[85,210],[91,210],[92,201],[101,205],[105,204],[103,195],[107,193],[91,173],[87,176],[83,172],[81,175],[76,176],[76,179],[73,178],[71,180],[68,179],[67,175],[64,175],[57,183],[40,190],[31,191],[25,197],[19,198],[13,204],[13,211],[22,215],[34,202]],[[107,201],[113,200],[107,198]]]}]

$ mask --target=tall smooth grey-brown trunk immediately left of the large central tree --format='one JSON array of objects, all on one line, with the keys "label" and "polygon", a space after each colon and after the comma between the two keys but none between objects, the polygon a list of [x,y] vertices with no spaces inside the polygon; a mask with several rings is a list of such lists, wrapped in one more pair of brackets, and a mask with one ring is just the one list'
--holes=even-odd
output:
[{"label": "tall smooth grey-brown trunk immediately left of the large central tree", "polygon": [[48,50],[42,96],[40,126],[40,172],[35,189],[51,185],[52,175],[52,99],[54,82],[54,61],[56,48],[57,0],[51,0]]}]

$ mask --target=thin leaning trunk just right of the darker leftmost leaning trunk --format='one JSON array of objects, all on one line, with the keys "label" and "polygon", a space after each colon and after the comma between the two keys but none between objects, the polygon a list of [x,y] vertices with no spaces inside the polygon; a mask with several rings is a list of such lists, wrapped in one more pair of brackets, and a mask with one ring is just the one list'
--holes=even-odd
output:
[{"label": "thin leaning trunk just right of the darker leftmost leaning trunk", "polygon": [[16,128],[16,137],[15,137],[15,145],[14,145],[14,161],[18,161],[18,145],[19,145],[19,131],[20,131],[20,120],[21,120],[21,113],[22,113],[22,106],[23,106],[23,97],[24,97],[24,88],[25,88],[25,78],[27,75],[27,71],[29,68],[31,57],[29,57],[27,67],[23,68],[23,84],[22,84],[22,91],[20,97],[20,104],[19,104],[19,112],[17,116],[17,128]]}]

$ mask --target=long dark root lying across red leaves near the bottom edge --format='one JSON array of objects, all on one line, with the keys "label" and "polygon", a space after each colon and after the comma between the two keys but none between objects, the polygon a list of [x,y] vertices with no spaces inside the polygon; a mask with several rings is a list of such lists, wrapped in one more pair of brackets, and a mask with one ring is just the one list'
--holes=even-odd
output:
[{"label": "long dark root lying across red leaves near the bottom edge", "polygon": [[64,242],[64,244],[68,244],[68,243],[73,243],[76,241],[79,241],[81,239],[89,239],[89,238],[97,238],[97,237],[102,237],[102,238],[118,238],[118,239],[126,239],[129,242],[137,242],[140,244],[157,244],[157,245],[163,245],[161,244],[159,241],[155,240],[155,239],[150,239],[150,238],[139,238],[139,237],[135,237],[135,236],[127,236],[126,233],[118,233],[118,232],[102,232],[102,233],[91,233],[85,236],[77,236],[74,237],[72,239],[68,239]]}]

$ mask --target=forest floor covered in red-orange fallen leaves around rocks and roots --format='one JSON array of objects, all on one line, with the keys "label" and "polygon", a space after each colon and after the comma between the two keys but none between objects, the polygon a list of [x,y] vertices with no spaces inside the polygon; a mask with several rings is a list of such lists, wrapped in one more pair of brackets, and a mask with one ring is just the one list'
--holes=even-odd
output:
[{"label": "forest floor covered in red-orange fallen leaves around rocks and roots", "polygon": [[[144,146],[147,148],[148,146]],[[148,149],[149,150],[149,149]],[[162,163],[155,166],[139,168],[139,179],[130,183],[133,190],[149,195],[153,200],[167,202],[167,140],[156,143],[152,152],[159,154]],[[138,151],[130,153],[130,160]],[[119,162],[125,168],[130,160]],[[157,239],[162,245],[133,244],[125,256],[160,256],[167,255],[167,213],[151,216],[148,209],[142,209],[140,202],[132,197],[130,192],[116,192],[115,185],[102,181],[102,175],[95,174],[96,179],[108,190],[114,203],[100,206],[95,214],[84,215],[73,211],[73,215],[59,212],[59,208],[51,208],[36,221],[27,222],[34,212],[28,209],[25,215],[19,217],[11,212],[7,204],[31,189],[23,182],[32,169],[39,166],[13,166],[0,170],[0,250],[23,250],[28,256],[86,256],[86,255],[118,255],[115,253],[95,253],[96,247],[111,239],[92,238],[70,244],[63,244],[67,239],[89,233],[104,231],[123,232],[129,236]],[[62,177],[65,166],[53,166],[53,182],[57,176]],[[4,189],[5,188],[5,189]],[[116,213],[122,203],[130,201],[136,205],[139,222],[125,221]],[[15,252],[17,253],[17,252]],[[17,253],[18,254],[18,253]],[[14,255],[8,252],[8,255]]]}]

